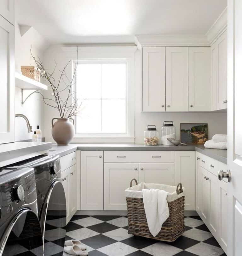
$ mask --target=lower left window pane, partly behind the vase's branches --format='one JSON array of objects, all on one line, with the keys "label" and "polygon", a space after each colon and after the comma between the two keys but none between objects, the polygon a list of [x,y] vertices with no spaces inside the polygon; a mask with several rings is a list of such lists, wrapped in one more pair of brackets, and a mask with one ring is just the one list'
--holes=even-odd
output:
[{"label": "lower left window pane, partly behind the vase's branches", "polygon": [[76,133],[100,132],[101,100],[84,100],[76,122]]}]

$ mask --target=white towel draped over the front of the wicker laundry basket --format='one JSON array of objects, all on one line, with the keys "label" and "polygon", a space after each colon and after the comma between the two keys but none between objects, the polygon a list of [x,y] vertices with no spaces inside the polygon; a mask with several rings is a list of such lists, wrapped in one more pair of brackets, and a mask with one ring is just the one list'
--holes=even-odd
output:
[{"label": "white towel draped over the front of the wicker laundry basket", "polygon": [[162,224],[169,217],[168,192],[160,189],[142,189],[148,227],[152,236],[157,236]]}]

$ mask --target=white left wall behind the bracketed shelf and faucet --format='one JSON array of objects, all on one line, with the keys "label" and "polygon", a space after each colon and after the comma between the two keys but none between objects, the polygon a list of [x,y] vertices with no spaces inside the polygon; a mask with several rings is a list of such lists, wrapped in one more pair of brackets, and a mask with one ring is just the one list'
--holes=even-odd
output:
[{"label": "white left wall behind the bracketed shelf and faucet", "polygon": [[[30,28],[23,36],[20,35],[20,27],[15,23],[15,71],[21,73],[20,66],[35,66],[30,54],[32,45],[32,52],[35,56],[43,57],[44,39],[37,33],[34,28]],[[32,91],[24,91],[24,98]],[[33,94],[21,106],[21,89],[15,87],[15,114],[21,113],[27,116],[30,124],[34,129],[36,125],[43,128],[43,102],[39,100],[39,94]],[[23,118],[15,118],[15,141],[32,139],[33,133],[27,132],[26,122]]]}]

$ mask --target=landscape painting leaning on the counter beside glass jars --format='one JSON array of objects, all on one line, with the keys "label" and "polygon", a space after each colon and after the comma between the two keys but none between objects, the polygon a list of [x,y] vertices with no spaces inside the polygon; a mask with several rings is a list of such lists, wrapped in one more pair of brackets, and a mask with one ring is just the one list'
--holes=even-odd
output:
[{"label": "landscape painting leaning on the counter beside glass jars", "polygon": [[181,123],[181,142],[204,144],[208,140],[208,124]]}]

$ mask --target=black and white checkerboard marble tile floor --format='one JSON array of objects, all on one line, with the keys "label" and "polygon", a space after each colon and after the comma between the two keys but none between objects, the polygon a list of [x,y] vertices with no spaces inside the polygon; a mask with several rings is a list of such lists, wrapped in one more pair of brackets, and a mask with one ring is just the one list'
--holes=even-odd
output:
[{"label": "black and white checkerboard marble tile floor", "polygon": [[185,226],[183,235],[168,243],[128,234],[127,217],[75,215],[66,226],[66,240],[80,240],[89,256],[226,255],[199,216],[186,217]]}]

